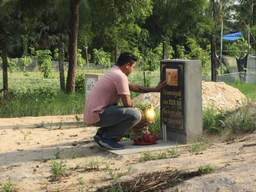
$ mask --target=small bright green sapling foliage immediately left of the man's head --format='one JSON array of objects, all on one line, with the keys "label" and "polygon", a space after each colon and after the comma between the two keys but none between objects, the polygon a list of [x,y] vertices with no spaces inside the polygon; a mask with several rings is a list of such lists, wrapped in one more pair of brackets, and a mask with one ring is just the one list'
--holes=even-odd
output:
[{"label": "small bright green sapling foliage immediately left of the man's head", "polygon": [[94,54],[94,64],[95,65],[102,65],[105,66],[106,68],[111,67],[111,54],[105,52],[103,48],[101,47],[100,49],[93,49],[93,54]]}]

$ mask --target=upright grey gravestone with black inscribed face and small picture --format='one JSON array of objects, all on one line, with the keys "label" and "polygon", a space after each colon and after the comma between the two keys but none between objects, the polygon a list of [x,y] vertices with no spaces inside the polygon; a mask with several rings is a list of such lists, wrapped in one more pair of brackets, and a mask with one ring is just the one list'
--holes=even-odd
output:
[{"label": "upright grey gravestone with black inscribed face and small picture", "polygon": [[161,60],[161,81],[167,85],[161,93],[163,138],[187,144],[202,136],[201,61]]}]

